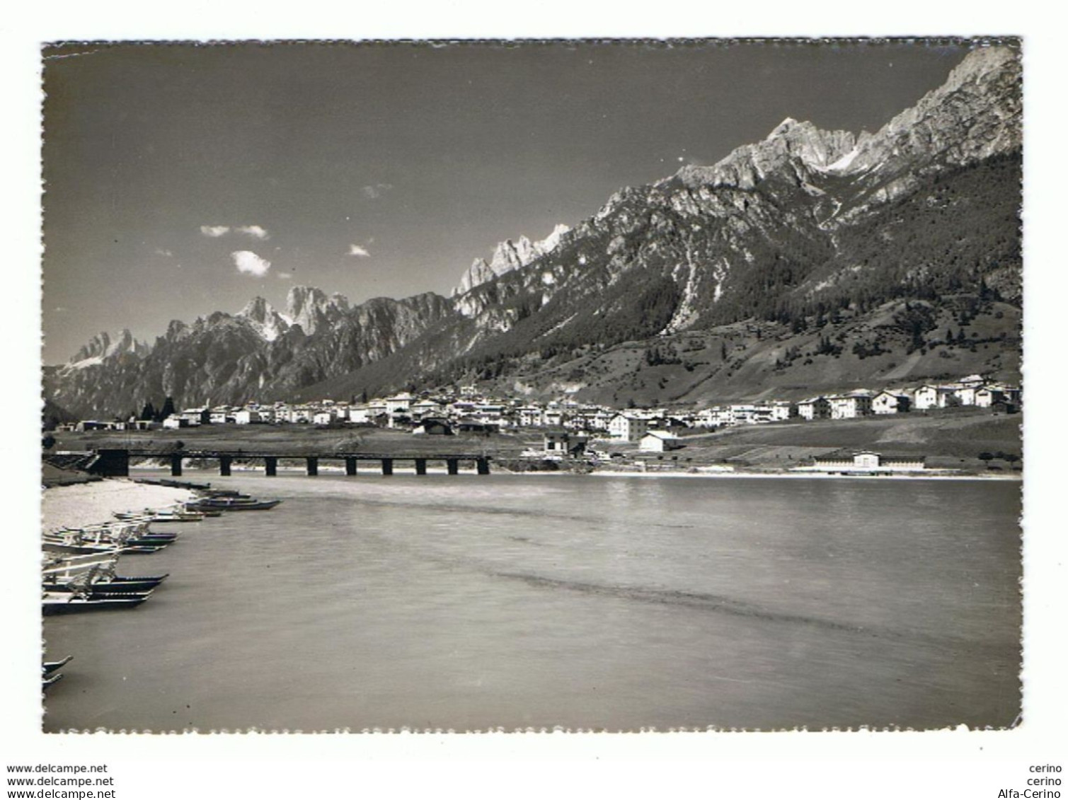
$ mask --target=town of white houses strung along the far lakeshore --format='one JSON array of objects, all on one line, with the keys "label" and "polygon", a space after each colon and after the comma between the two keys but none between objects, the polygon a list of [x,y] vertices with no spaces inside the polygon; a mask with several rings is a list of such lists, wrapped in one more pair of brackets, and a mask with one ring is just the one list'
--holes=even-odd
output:
[{"label": "town of white houses strung along the far lakeshore", "polygon": [[[121,433],[122,432],[184,432],[194,435],[191,429],[233,431],[226,437],[241,438],[238,429],[253,433],[261,428],[284,433],[326,435],[330,431],[355,433],[380,432],[390,437],[394,446],[414,438],[439,436],[490,437],[500,442],[503,434],[511,444],[518,442],[520,449],[498,446],[494,457],[506,457],[513,465],[529,468],[535,462],[579,460],[598,468],[663,469],[685,467],[688,470],[725,469],[750,466],[775,471],[789,469],[795,473],[850,473],[933,474],[941,469],[1017,469],[1019,457],[1003,453],[993,445],[991,452],[976,451],[970,462],[949,460],[953,454],[939,450],[917,453],[915,447],[896,449],[893,441],[890,451],[880,444],[875,451],[869,441],[858,442],[855,436],[837,435],[849,421],[868,419],[891,420],[899,418],[920,420],[930,415],[954,415],[959,412],[973,422],[1016,414],[1022,403],[1021,390],[970,374],[958,380],[924,383],[915,387],[886,388],[879,391],[857,389],[842,394],[820,395],[801,401],[767,400],[764,402],[731,403],[704,409],[628,407],[612,409],[603,405],[580,403],[571,399],[532,402],[529,399],[487,396],[477,386],[456,386],[449,390],[403,391],[381,398],[361,399],[359,402],[320,400],[304,403],[256,403],[242,405],[204,406],[174,410],[164,402],[166,414],[153,412],[146,405],[143,419],[81,420],[56,428],[63,433]],[[978,415],[978,417],[976,417]],[[930,421],[930,420],[928,420]],[[933,420],[939,426],[942,422]],[[804,447],[771,448],[773,454],[764,452],[758,462],[723,459],[720,438],[723,434],[745,430],[782,429],[782,423],[795,423],[821,435],[804,443]],[[778,425],[776,425],[778,423]],[[839,425],[842,423],[842,425]],[[140,434],[145,435],[145,434]],[[151,435],[151,434],[148,434]],[[199,437],[199,436],[198,436]],[[399,438],[398,438],[399,437]],[[796,436],[795,436],[796,438]],[[870,438],[878,439],[878,436]],[[816,441],[818,439],[818,442]],[[235,439],[236,441],[236,439]],[[380,442],[381,439],[376,439]],[[886,442],[882,436],[880,442]],[[82,444],[87,444],[82,439]],[[785,442],[779,444],[797,444]],[[852,445],[852,447],[850,447]],[[711,447],[710,447],[711,446]],[[663,454],[686,450],[689,458]],[[764,448],[768,450],[769,448]],[[957,453],[960,454],[960,453]],[[933,457],[928,459],[927,457]],[[654,458],[661,463],[649,462]],[[943,458],[940,458],[943,457]],[[1006,462],[998,466],[995,460]],[[664,463],[665,462],[665,463]]]}]

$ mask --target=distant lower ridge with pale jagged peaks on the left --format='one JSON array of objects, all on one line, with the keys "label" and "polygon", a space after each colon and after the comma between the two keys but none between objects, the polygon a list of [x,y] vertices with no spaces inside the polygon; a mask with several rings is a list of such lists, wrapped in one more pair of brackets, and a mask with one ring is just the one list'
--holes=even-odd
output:
[{"label": "distant lower ridge with pale jagged peaks on the left", "polygon": [[123,415],[163,397],[179,406],[285,397],[386,357],[451,314],[437,294],[349,308],[341,295],[294,287],[286,314],[256,298],[235,315],[175,320],[137,357],[73,359],[49,370],[45,391],[83,417]]}]

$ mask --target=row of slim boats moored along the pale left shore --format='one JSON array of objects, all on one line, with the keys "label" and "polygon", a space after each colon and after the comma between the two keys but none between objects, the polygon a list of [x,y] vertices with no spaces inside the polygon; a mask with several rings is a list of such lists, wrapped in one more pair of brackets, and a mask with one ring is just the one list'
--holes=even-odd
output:
[{"label": "row of slim boats moored along the pale left shore", "polygon": [[[272,509],[281,500],[257,500],[233,491],[204,490],[189,502],[166,509],[114,514],[115,519],[84,528],[60,528],[43,534],[42,611],[45,614],[134,608],[148,599],[168,573],[121,575],[120,557],[151,554],[174,544],[177,533],[153,531],[153,523],[199,522],[229,511]],[[42,681],[48,687],[63,677],[70,660],[46,661]]]}]

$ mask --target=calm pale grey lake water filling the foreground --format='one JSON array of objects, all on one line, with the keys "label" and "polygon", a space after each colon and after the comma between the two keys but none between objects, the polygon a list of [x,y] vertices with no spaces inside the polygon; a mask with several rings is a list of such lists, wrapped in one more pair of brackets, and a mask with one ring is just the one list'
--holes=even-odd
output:
[{"label": "calm pale grey lake water filling the foreground", "polygon": [[[46,731],[1011,724],[1008,481],[235,475],[45,619]],[[191,480],[198,480],[191,477]]]}]

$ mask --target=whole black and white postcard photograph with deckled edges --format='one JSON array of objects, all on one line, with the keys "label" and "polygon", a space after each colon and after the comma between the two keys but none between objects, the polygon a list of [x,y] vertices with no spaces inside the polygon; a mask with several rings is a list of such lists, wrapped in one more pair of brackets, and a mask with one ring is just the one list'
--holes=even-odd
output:
[{"label": "whole black and white postcard photograph with deckled edges", "polygon": [[1018,39],[42,59],[46,732],[1017,724]]}]

